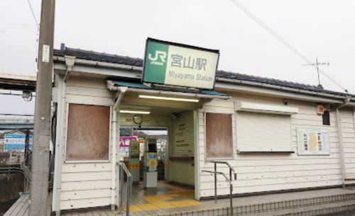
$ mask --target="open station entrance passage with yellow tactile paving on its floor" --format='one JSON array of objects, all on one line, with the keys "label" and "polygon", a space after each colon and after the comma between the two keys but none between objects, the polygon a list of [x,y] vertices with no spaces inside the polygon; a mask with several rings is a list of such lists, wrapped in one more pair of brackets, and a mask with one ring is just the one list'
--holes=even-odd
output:
[{"label": "open station entrance passage with yellow tactile paving on its floor", "polygon": [[[194,111],[184,110],[169,115],[152,111],[150,115],[142,115],[141,127],[134,125],[134,116],[134,113],[120,113],[119,158],[127,167],[130,167],[129,141],[124,143],[124,140],[133,137],[140,143],[139,182],[132,185],[130,212],[146,214],[147,211],[200,205],[195,200]],[[146,188],[143,183],[146,169],[143,164],[144,143],[149,138],[156,139],[158,159],[157,186],[152,188]]]}]

